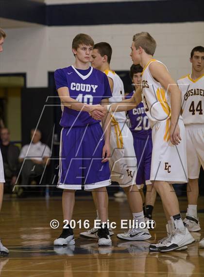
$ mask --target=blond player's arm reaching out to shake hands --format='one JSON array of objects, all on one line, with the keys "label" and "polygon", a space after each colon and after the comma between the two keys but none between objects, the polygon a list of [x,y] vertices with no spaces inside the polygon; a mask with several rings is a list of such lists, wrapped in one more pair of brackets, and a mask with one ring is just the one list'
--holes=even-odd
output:
[{"label": "blond player's arm reaching out to shake hands", "polygon": [[129,111],[134,109],[141,101],[141,88],[138,88],[131,98],[125,99],[119,103],[112,104],[110,108],[108,108],[109,106],[95,105],[92,107],[91,111],[89,111],[89,114],[93,116],[94,119],[100,120],[102,117],[97,117],[94,113],[94,110],[101,111],[103,114],[106,114],[107,112]]}]

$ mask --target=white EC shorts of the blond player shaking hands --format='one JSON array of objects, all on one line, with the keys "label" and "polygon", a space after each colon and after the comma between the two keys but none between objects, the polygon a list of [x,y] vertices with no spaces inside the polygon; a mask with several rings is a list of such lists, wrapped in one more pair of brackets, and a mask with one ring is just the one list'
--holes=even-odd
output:
[{"label": "white EC shorts of the blond player shaking hands", "polygon": [[153,126],[153,153],[150,180],[166,181],[169,184],[187,183],[186,133],[182,119],[179,119],[181,142],[170,142],[170,119]]}]

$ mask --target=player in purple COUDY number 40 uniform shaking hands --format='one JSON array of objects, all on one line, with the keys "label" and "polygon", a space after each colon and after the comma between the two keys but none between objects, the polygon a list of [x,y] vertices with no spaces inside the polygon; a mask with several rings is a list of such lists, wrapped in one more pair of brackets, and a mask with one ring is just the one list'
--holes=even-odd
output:
[{"label": "player in purple COUDY number 40 uniform shaking hands", "polygon": [[[107,228],[108,203],[106,186],[111,184],[107,157],[110,156],[110,116],[95,120],[89,115],[92,104],[108,103],[112,96],[107,76],[89,66],[94,41],[78,34],[72,42],[75,63],[57,69],[54,73],[56,89],[63,106],[60,125],[60,169],[58,187],[62,188],[64,222],[70,222],[74,208],[75,190],[85,185],[85,190],[96,192],[101,228],[98,244],[111,245]],[[63,227],[54,245],[74,244],[70,225]]]}]

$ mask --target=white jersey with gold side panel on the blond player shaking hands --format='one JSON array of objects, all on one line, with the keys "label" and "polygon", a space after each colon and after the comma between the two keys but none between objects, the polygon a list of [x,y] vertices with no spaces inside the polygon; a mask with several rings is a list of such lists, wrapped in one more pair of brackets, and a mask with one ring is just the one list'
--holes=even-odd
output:
[{"label": "white jersey with gold side panel on the blond player shaking hands", "polygon": [[152,62],[162,62],[151,59],[142,72],[142,100],[145,112],[150,119],[151,127],[158,121],[170,118],[170,92],[166,92],[159,82],[150,73],[149,65]]}]

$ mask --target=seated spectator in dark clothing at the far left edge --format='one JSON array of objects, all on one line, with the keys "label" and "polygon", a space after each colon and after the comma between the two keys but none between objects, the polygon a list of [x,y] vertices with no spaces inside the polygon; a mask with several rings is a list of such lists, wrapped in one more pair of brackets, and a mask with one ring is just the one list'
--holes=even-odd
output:
[{"label": "seated spectator in dark clothing at the far left edge", "polygon": [[0,139],[5,181],[7,184],[15,185],[19,171],[19,148],[10,142],[10,132],[7,128],[0,129]]}]

